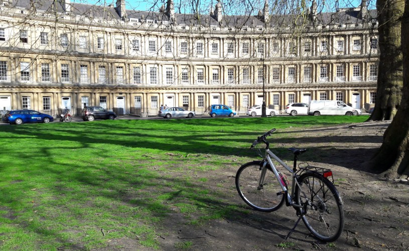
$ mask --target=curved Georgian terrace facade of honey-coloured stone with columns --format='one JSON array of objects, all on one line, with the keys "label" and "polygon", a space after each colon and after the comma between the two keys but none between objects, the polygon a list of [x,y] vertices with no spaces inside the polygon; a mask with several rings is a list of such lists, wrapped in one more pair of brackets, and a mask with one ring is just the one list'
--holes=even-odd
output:
[{"label": "curved Georgian terrace facade of honey-coloured stone with columns", "polygon": [[316,99],[367,108],[376,98],[377,37],[359,19],[296,38],[265,17],[220,25],[220,3],[206,26],[174,14],[172,1],[161,13],[118,1],[105,16],[67,1],[54,14],[10,5],[0,13],[0,110],[100,105],[155,115],[161,104],[200,113],[224,103],[245,112],[261,104],[263,85],[266,104],[279,109]]}]

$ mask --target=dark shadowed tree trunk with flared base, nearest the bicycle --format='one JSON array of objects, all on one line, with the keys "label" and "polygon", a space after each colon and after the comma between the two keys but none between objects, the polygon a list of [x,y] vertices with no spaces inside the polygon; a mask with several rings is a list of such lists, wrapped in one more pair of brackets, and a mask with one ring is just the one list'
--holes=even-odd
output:
[{"label": "dark shadowed tree trunk with flared base, nearest the bicycle", "polygon": [[403,89],[396,116],[383,135],[383,143],[369,165],[386,178],[409,175],[409,0],[402,17]]}]

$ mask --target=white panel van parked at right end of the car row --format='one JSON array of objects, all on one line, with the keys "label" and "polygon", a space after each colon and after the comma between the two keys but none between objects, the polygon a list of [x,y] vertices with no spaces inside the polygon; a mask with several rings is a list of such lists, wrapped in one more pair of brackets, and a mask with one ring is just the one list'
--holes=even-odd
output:
[{"label": "white panel van parked at right end of the car row", "polygon": [[358,115],[360,109],[352,108],[342,101],[336,100],[311,100],[308,106],[308,115]]}]

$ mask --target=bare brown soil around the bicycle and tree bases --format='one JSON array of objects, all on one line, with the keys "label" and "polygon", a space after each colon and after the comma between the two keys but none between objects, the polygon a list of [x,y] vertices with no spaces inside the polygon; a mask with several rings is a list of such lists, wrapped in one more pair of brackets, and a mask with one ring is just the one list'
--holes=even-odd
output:
[{"label": "bare brown soil around the bicycle and tree bases", "polygon": [[[175,211],[162,222],[166,236],[158,236],[163,250],[408,250],[409,249],[409,181],[378,179],[376,173],[363,170],[381,145],[388,122],[357,123],[348,126],[315,129],[290,129],[286,141],[280,138],[274,148],[305,147],[302,158],[312,165],[333,170],[336,187],[344,202],[345,227],[333,243],[317,241],[301,221],[287,242],[284,237],[294,226],[297,216],[283,206],[271,213],[250,210],[248,214],[209,220],[207,224],[186,224],[186,217]],[[288,140],[291,135],[291,140]],[[240,166],[201,173],[205,186],[218,191],[229,205],[245,203],[238,196],[235,173]],[[223,184],[223,186],[217,184]],[[105,248],[148,250],[135,246],[135,240],[113,240]],[[183,242],[187,242],[183,245]],[[179,248],[178,248],[179,247]]]}]

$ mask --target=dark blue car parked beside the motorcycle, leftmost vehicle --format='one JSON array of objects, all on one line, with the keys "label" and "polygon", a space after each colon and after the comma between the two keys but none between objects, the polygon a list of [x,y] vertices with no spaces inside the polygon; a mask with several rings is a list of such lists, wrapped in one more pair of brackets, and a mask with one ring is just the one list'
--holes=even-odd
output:
[{"label": "dark blue car parked beside the motorcycle, leftmost vehicle", "polygon": [[5,123],[48,123],[54,121],[53,116],[35,110],[12,110],[2,118]]}]

